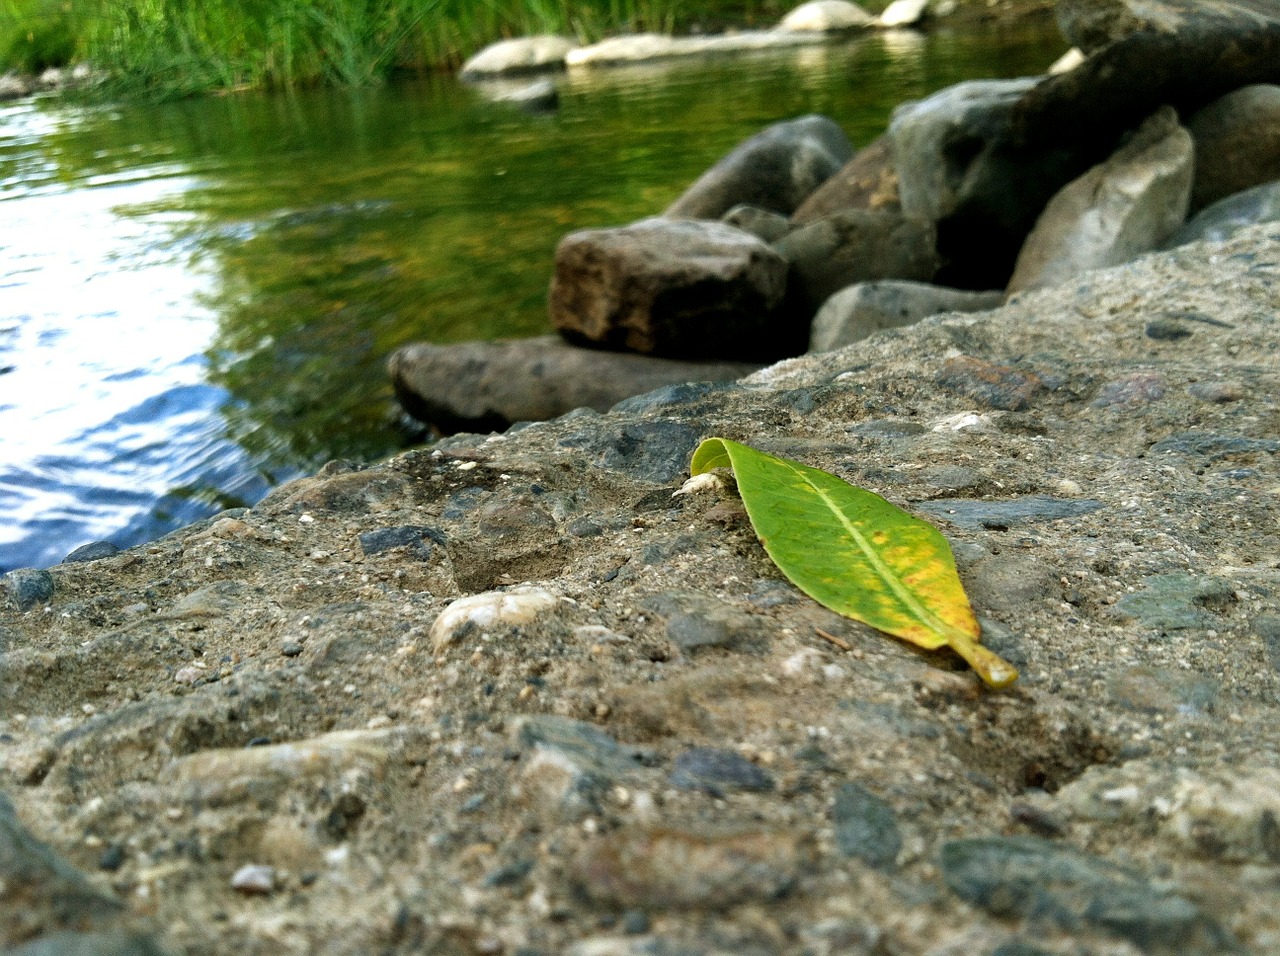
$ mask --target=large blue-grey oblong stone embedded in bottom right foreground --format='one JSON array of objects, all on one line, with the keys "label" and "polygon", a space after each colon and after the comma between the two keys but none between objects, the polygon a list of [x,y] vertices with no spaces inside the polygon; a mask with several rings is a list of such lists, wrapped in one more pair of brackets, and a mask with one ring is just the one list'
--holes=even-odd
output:
[{"label": "large blue-grey oblong stone embedded in bottom right foreground", "polygon": [[1239,952],[1231,934],[1184,896],[1144,877],[1039,837],[952,840],[942,878],[965,902],[1000,918],[1071,930],[1091,927],[1143,952]]}]

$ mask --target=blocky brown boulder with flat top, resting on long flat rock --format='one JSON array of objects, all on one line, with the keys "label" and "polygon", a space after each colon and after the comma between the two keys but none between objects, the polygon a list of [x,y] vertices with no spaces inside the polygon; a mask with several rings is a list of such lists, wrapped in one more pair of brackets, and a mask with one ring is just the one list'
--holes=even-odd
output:
[{"label": "blocky brown boulder with flat top, resting on long flat rock", "polygon": [[723,223],[646,219],[556,250],[552,324],[579,344],[668,358],[769,361],[804,351],[778,315],[787,262]]}]

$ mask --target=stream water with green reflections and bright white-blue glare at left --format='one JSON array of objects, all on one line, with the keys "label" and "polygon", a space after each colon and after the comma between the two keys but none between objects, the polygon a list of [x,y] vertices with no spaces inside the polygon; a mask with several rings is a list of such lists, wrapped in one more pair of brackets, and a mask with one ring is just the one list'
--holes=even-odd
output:
[{"label": "stream water with green reflections and bright white-blue glare at left", "polygon": [[806,113],[1041,72],[1047,32],[887,35],[570,77],[530,116],[452,79],[165,106],[0,106],[0,571],[250,504],[406,440],[415,339],[545,330],[568,230],[660,211]]}]

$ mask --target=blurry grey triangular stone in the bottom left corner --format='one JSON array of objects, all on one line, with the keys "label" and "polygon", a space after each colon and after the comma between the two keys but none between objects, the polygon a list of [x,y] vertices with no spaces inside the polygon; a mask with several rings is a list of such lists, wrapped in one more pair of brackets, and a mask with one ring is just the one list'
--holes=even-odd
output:
[{"label": "blurry grey triangular stone in the bottom left corner", "polygon": [[37,840],[0,793],[0,946],[59,929],[99,929],[123,906]]}]

